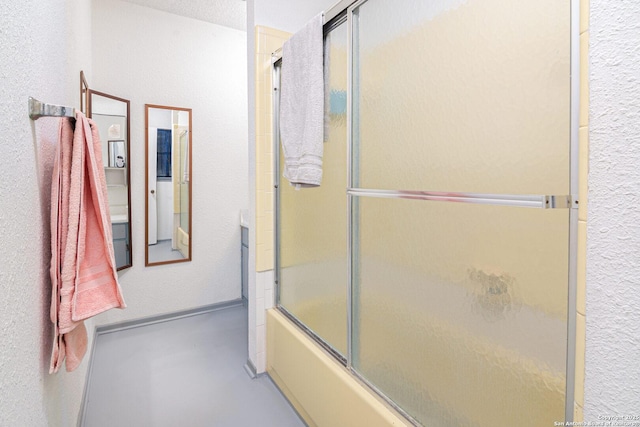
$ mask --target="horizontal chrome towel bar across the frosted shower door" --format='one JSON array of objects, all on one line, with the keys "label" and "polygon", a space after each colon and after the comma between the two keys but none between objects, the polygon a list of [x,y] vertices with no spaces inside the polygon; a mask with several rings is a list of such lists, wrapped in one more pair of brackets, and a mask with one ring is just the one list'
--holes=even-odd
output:
[{"label": "horizontal chrome towel bar across the frosted shower door", "polygon": [[[516,206],[538,209],[568,209],[573,205],[573,198],[569,195],[482,194],[442,191],[372,190],[364,188],[348,188],[347,194],[362,197],[430,200],[437,202],[474,203],[479,205]],[[577,207],[577,199],[575,205],[575,207]]]}]

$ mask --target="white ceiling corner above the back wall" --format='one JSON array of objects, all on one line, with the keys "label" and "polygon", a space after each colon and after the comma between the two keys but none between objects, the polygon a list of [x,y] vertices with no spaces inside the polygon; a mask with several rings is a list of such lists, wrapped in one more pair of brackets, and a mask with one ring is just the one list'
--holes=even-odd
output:
[{"label": "white ceiling corner above the back wall", "polygon": [[246,31],[247,3],[243,0],[124,0],[187,18]]}]

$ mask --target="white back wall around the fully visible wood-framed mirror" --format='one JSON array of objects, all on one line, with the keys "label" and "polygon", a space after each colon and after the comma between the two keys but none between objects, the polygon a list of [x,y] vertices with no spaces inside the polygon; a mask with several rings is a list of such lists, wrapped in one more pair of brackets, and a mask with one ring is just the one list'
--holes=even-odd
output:
[{"label": "white back wall around the fully visible wood-framed mirror", "polygon": [[[93,1],[90,87],[131,101],[133,267],[128,307],[98,324],[240,298],[247,208],[246,33],[118,0]],[[192,108],[193,261],[144,266],[144,105]]]}]

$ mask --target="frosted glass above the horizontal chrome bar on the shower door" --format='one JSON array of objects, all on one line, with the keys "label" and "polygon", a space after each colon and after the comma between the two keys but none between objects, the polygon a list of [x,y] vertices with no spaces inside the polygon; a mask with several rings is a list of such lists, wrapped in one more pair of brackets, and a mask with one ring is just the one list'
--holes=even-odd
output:
[{"label": "frosted glass above the horizontal chrome bar on the shower door", "polygon": [[569,194],[570,3],[357,8],[358,186]]}]

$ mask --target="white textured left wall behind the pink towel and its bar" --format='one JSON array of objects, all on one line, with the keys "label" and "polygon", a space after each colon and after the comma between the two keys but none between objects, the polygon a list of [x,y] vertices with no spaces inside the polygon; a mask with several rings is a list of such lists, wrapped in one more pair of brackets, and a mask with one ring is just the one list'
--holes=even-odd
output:
[{"label": "white textured left wall behind the pink towel and its bar", "polygon": [[90,17],[84,0],[4,2],[0,14],[2,426],[73,426],[80,409],[87,359],[72,373],[48,373],[49,208],[59,119],[31,121],[27,98],[78,106],[80,70],[91,72]]}]

